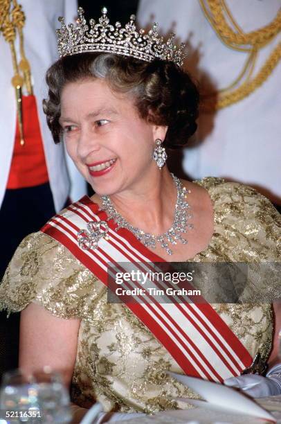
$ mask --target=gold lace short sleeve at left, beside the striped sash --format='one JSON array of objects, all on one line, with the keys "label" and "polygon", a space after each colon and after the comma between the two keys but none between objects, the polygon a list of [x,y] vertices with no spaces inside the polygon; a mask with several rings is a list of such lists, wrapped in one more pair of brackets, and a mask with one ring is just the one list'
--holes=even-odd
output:
[{"label": "gold lace short sleeve at left, beside the striped sash", "polygon": [[44,233],[24,238],[0,285],[0,310],[19,312],[30,302],[62,318],[82,318],[101,283],[67,249]]}]

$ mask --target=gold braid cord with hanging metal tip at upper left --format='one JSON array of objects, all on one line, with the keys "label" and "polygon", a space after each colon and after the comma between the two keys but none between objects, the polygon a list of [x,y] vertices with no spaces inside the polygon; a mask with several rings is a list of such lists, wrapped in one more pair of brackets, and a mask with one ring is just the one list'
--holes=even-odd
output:
[{"label": "gold braid cord with hanging metal tip at upper left", "polygon": [[[19,121],[20,143],[24,145],[24,127],[22,116],[22,96],[21,89],[26,85],[28,94],[32,94],[30,65],[24,53],[24,35],[22,29],[24,28],[25,15],[21,10],[21,6],[17,0],[0,0],[0,31],[3,37],[10,45],[12,55],[12,67],[14,69],[14,76],[12,77],[12,86],[15,87],[15,95],[17,100],[17,118]],[[17,53],[15,50],[15,39],[19,34],[21,61],[17,62]],[[20,71],[23,73],[21,76]]]}]

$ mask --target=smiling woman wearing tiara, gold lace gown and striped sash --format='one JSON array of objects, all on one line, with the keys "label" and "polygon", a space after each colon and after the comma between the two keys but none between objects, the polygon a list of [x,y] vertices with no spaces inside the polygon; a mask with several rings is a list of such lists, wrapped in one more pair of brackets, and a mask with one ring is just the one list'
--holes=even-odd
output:
[{"label": "smiling woman wearing tiara, gold lace gown and striped sash", "polygon": [[[196,396],[167,371],[222,382],[256,355],[273,364],[271,306],[107,303],[108,263],[275,262],[280,218],[252,188],[179,181],[164,165],[162,146],[182,145],[197,127],[197,88],[179,67],[181,50],[155,42],[155,28],[148,41],[136,34],[134,19],[124,35],[106,10],[92,32],[85,25],[81,10],[77,28],[62,22],[44,111],[96,194],[21,242],[0,304],[22,310],[24,369],[60,370],[82,407],[98,400],[106,411],[156,412]],[[276,377],[253,377],[278,392]]]}]

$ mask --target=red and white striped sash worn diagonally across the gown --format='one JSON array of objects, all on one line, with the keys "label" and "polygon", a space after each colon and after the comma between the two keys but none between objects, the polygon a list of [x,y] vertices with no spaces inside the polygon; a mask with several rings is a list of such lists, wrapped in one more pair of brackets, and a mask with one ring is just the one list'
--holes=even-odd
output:
[{"label": "red and white striped sash worn diagonally across the gown", "polygon": [[[107,221],[108,240],[100,239],[98,249],[84,250],[78,245],[77,233],[90,221]],[[147,270],[149,263],[163,262],[130,231],[120,229],[117,233],[115,228],[116,224],[107,220],[105,211],[100,211],[98,205],[85,196],[71,204],[63,214],[51,218],[41,231],[69,249],[105,285],[109,263],[117,268],[122,263],[132,263],[134,268]],[[163,287],[163,281],[156,285]],[[169,286],[169,283],[165,282],[165,285]],[[132,281],[123,284],[124,288],[137,286],[138,283]],[[181,296],[176,296],[174,303],[150,300],[139,295],[138,301],[126,305],[188,376],[222,382],[251,365],[252,357],[242,342],[203,298],[197,303],[185,301]]]}]

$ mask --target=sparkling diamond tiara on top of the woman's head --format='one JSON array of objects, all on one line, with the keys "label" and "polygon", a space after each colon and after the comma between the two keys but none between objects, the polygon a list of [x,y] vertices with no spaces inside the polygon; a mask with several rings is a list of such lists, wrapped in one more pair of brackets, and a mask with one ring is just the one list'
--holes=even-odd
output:
[{"label": "sparkling diamond tiara on top of the woman's head", "polygon": [[109,24],[107,8],[102,8],[102,16],[98,23],[90,19],[89,25],[84,18],[84,10],[78,8],[76,25],[66,26],[64,18],[59,17],[62,25],[57,29],[57,48],[60,58],[85,52],[115,53],[116,55],[130,56],[132,58],[151,62],[154,59],[168,60],[181,67],[186,57],[185,44],[179,47],[172,43],[175,34],[164,41],[158,35],[158,24],[154,22],[152,29],[136,30],[136,17],[131,15],[130,21],[122,28],[120,22]]}]

